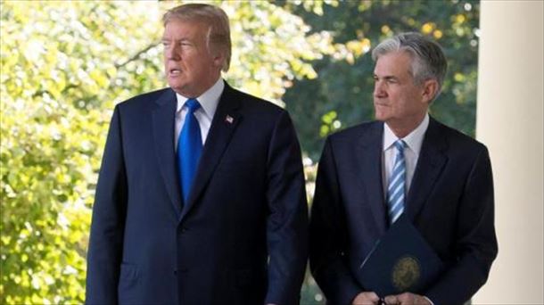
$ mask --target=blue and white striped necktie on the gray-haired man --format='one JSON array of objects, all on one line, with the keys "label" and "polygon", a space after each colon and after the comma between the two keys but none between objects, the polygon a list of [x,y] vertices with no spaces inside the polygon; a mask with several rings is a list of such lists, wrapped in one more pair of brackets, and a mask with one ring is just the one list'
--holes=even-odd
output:
[{"label": "blue and white striped necktie on the gray-haired man", "polygon": [[389,212],[389,222],[392,224],[400,217],[404,211],[404,192],[406,185],[406,164],[404,161],[404,141],[395,142],[397,155],[395,165],[387,187],[387,206]]}]

